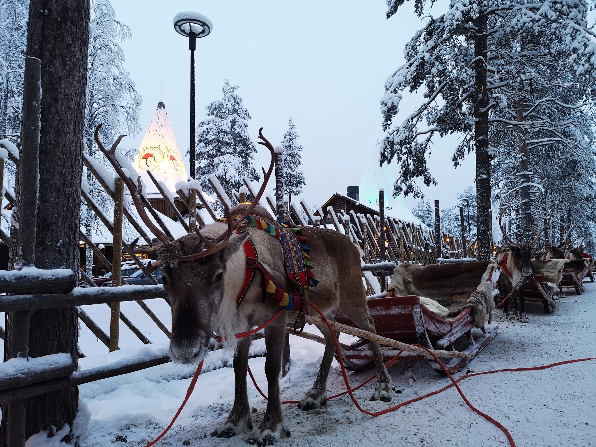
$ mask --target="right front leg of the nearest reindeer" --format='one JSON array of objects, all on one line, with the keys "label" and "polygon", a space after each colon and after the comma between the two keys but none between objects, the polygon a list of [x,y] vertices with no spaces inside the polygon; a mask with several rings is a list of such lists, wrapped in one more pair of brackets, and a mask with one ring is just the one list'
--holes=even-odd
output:
[{"label": "right front leg of the nearest reindeer", "polygon": [[267,409],[258,432],[247,440],[249,444],[271,445],[281,437],[290,436],[290,432],[285,428],[280,398],[281,355],[284,350],[284,340],[285,318],[278,318],[265,328],[265,347],[267,349],[265,375],[269,386]]}]

